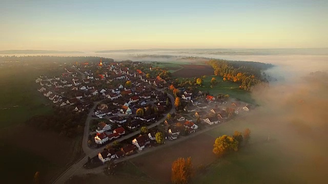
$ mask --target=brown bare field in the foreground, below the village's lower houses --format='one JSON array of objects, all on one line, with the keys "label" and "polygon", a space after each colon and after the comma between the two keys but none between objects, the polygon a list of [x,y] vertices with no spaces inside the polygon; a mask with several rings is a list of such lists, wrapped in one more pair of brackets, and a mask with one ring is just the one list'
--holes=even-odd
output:
[{"label": "brown bare field in the foreground, below the village's lower houses", "polygon": [[[172,163],[178,157],[191,156],[195,169],[201,164],[211,164],[216,159],[212,153],[214,140],[212,136],[202,133],[173,146],[133,158],[131,162],[154,180],[170,183]],[[202,147],[199,148],[199,145]]]}]

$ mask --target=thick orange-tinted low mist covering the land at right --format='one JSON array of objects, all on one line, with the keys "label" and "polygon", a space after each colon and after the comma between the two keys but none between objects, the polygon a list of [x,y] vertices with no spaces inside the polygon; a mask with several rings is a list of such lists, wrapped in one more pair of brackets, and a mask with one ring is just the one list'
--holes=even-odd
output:
[{"label": "thick orange-tinted low mist covering the land at right", "polygon": [[327,73],[308,74],[294,83],[259,85],[252,91],[260,106],[243,117],[242,128],[253,130],[253,142],[271,141],[267,143],[273,147],[271,159],[283,181],[326,183],[327,78]]}]

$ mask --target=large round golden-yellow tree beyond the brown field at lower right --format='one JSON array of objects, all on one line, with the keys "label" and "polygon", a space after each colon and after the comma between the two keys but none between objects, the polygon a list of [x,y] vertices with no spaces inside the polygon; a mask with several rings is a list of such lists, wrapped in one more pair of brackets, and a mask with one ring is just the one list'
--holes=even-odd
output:
[{"label": "large round golden-yellow tree beyond the brown field at lower right", "polygon": [[213,153],[222,156],[229,151],[238,151],[238,141],[229,135],[222,135],[215,139]]}]

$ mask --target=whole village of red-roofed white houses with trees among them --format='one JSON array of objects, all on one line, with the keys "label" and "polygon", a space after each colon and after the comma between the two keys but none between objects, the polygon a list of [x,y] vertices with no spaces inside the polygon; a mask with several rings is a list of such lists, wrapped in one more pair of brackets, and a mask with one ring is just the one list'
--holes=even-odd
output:
[{"label": "whole village of red-roofed white houses with trees among them", "polygon": [[175,88],[167,72],[154,70],[151,63],[100,60],[60,67],[64,71],[61,76],[40,75],[35,82],[56,108],[88,113],[83,139],[88,148],[84,150],[99,152],[88,156],[86,168],[109,160],[119,162],[253,108],[229,95],[214,97],[204,91]]}]

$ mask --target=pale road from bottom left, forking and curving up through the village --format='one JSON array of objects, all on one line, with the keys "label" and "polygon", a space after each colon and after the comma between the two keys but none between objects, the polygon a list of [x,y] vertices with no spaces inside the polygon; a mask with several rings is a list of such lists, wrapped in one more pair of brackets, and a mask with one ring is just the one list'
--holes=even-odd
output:
[{"label": "pale road from bottom left, forking and curving up through the village", "polygon": [[[83,75],[84,76],[84,75]],[[163,91],[163,90],[160,90],[160,89],[157,89],[159,91]],[[175,108],[174,108],[174,98],[171,94],[168,94],[170,100],[171,100],[171,103],[172,103],[172,108],[171,110],[168,112],[168,113],[174,113],[175,112]],[[98,102],[101,102],[101,101],[98,101]],[[78,162],[76,162],[75,164],[73,164],[70,168],[68,168],[63,174],[61,174],[53,183],[65,183],[65,181],[67,179],[69,179],[71,176],[73,176],[75,173],[83,173],[85,171],[83,170],[87,170],[85,169],[83,166],[85,165],[85,163],[87,163],[88,161],[88,157],[93,157],[95,156],[96,154],[98,154],[99,152],[103,151],[104,148],[98,148],[98,149],[92,149],[88,146],[88,137],[89,137],[89,124],[90,124],[90,121],[93,119],[92,118],[92,114],[93,114],[93,111],[94,109],[96,108],[98,102],[95,102],[95,104],[93,105],[93,107],[90,109],[90,112],[88,114],[88,117],[87,117],[87,120],[86,120],[86,124],[85,124],[85,127],[84,127],[84,134],[83,134],[83,141],[82,141],[82,148],[83,148],[83,151],[85,152],[86,156],[83,157],[82,159],[80,159]],[[157,125],[159,125],[161,122],[163,122],[165,119],[166,119],[166,116],[167,114],[164,114],[164,117],[161,118],[160,120],[158,120],[156,123],[153,123],[152,125],[149,125],[148,126],[148,129],[152,128],[152,127],[155,127]],[[135,136],[137,134],[140,134],[140,130],[138,131],[135,131],[135,132],[132,132],[128,135],[125,135],[125,136],[122,136],[120,137],[119,139],[117,139],[117,141],[122,141],[122,140],[125,140],[125,139],[128,139],[129,137],[132,137],[132,136]],[[109,143],[110,145],[112,143]],[[146,152],[146,151],[145,151]],[[129,157],[130,158],[130,157]],[[125,158],[124,158],[125,159]],[[124,160],[122,159],[122,160]]]}]

